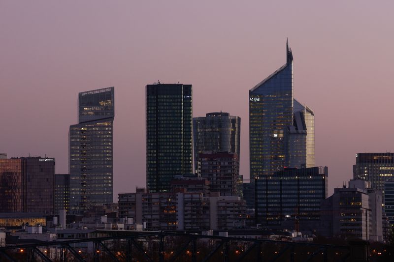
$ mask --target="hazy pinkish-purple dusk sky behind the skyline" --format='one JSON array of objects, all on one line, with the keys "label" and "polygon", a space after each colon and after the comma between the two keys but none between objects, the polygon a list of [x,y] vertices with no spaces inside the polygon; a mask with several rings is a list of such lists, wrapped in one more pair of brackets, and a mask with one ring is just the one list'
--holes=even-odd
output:
[{"label": "hazy pinkish-purple dusk sky behind the skyline", "polygon": [[0,152],[56,158],[68,172],[78,92],[115,87],[114,201],[145,186],[145,86],[193,85],[193,116],[241,117],[248,92],[294,56],[294,96],[315,112],[329,193],[356,153],[394,151],[394,2],[0,1]]}]

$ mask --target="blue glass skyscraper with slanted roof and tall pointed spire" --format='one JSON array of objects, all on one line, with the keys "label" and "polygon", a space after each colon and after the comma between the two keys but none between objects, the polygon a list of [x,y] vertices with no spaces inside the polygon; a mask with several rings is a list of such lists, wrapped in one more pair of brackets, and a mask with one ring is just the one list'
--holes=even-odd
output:
[{"label": "blue glass skyscraper with slanted roof and tall pointed spire", "polygon": [[256,181],[256,222],[266,221],[266,189],[260,179],[284,167],[315,165],[314,113],[293,97],[293,53],[274,73],[249,90],[250,177]]}]

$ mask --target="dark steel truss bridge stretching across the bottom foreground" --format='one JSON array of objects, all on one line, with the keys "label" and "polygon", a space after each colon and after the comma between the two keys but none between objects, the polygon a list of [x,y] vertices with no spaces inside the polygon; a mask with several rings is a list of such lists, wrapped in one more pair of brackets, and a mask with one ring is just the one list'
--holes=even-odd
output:
[{"label": "dark steel truss bridge stretching across the bottom foreground", "polygon": [[357,261],[360,256],[369,258],[365,241],[338,246],[167,232],[0,247],[0,261],[10,262],[339,262]]}]

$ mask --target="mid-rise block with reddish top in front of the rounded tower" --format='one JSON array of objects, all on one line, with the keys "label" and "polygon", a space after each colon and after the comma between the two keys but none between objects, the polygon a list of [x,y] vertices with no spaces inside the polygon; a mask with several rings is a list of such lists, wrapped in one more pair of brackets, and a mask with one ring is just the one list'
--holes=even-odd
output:
[{"label": "mid-rise block with reddish top in front of the rounded tower", "polygon": [[197,175],[210,182],[210,191],[220,196],[238,196],[238,155],[229,152],[200,153]]}]

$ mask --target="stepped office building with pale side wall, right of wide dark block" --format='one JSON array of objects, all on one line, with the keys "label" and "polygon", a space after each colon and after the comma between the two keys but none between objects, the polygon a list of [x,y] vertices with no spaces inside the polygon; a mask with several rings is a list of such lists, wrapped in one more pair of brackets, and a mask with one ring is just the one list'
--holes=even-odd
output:
[{"label": "stepped office building with pale side wall, right of wide dark block", "polygon": [[322,229],[328,237],[382,241],[382,192],[369,181],[349,181],[349,187],[335,188],[322,201]]}]

